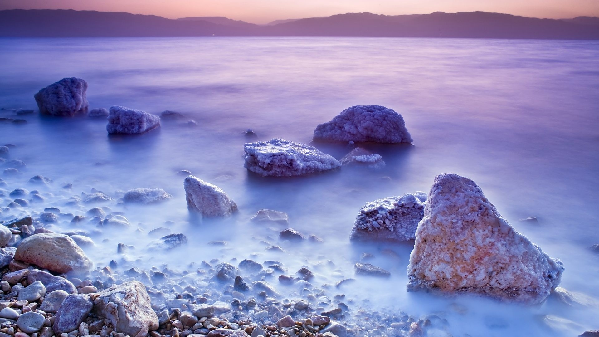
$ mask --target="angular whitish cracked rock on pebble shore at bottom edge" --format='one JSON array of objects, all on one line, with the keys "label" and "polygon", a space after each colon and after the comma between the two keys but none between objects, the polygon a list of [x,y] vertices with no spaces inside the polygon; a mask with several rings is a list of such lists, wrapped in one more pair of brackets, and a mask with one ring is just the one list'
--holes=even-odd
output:
[{"label": "angular whitish cracked rock on pebble shore at bottom edge", "polygon": [[132,337],[146,336],[158,329],[158,316],[140,281],[129,281],[92,295],[95,311],[114,326],[116,332]]}]

